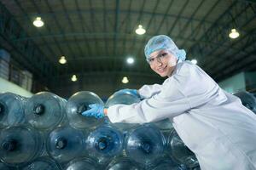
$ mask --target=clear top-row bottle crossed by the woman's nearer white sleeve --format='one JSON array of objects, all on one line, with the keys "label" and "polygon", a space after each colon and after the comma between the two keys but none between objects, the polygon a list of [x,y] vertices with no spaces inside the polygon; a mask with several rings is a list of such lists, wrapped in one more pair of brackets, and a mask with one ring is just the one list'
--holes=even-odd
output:
[{"label": "clear top-row bottle crossed by the woman's nearer white sleeve", "polygon": [[[129,92],[118,91],[108,98],[105,107],[108,108],[112,105],[131,105],[134,103],[138,103],[140,101],[141,100],[134,94],[131,94]],[[136,123],[113,123],[113,126],[117,127],[120,131],[128,130],[131,127],[135,127],[137,125],[138,124]]]}]

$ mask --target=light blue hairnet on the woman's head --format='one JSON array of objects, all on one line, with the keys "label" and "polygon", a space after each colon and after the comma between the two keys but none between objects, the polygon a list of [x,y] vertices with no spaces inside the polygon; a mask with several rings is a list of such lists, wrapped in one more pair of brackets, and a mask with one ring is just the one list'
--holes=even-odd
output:
[{"label": "light blue hairnet on the woman's head", "polygon": [[177,59],[186,59],[185,50],[177,48],[176,44],[172,41],[172,39],[166,35],[154,36],[148,40],[148,43],[144,48],[146,59],[149,59],[150,54],[152,54],[154,51],[158,51],[160,49],[169,50],[177,57]]}]

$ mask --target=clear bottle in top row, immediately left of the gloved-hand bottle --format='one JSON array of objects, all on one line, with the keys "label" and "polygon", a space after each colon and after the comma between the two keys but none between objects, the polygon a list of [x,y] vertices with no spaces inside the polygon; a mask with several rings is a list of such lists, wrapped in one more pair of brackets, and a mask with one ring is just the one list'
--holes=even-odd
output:
[{"label": "clear bottle in top row, immediately left of the gloved-hand bottle", "polygon": [[26,103],[26,120],[39,130],[52,130],[66,120],[67,101],[49,93],[34,94]]}]

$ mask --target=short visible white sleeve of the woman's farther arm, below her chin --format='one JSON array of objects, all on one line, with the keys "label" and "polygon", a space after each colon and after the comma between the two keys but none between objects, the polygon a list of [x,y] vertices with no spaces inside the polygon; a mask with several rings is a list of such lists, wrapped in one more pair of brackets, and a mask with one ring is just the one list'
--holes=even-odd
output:
[{"label": "short visible white sleeve of the woman's farther arm, below her chin", "polygon": [[137,92],[141,96],[142,99],[151,98],[154,94],[160,93],[161,85],[153,84],[153,85],[144,85],[142,88],[138,89]]}]

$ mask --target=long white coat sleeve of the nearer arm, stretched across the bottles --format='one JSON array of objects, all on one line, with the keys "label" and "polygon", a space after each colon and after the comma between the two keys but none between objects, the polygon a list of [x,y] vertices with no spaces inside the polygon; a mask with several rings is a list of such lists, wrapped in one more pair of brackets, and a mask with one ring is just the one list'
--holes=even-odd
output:
[{"label": "long white coat sleeve of the nearer arm, stretched across the bottles", "polygon": [[144,123],[172,118],[206,104],[214,98],[218,87],[206,73],[184,66],[169,77],[159,94],[132,105],[113,105],[108,108],[111,122]]}]

